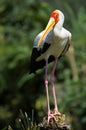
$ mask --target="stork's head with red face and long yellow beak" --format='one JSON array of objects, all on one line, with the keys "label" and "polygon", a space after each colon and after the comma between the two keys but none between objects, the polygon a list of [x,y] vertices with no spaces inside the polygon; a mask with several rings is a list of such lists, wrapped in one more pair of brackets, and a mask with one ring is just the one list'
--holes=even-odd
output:
[{"label": "stork's head with red face and long yellow beak", "polygon": [[49,33],[49,31],[55,26],[55,24],[57,24],[60,20],[61,20],[61,16],[63,15],[63,13],[60,10],[54,10],[51,14],[50,14],[50,19],[49,22],[43,32],[43,35],[40,37],[39,41],[38,41],[38,46],[40,46],[43,38],[45,36],[47,36],[47,34]]}]

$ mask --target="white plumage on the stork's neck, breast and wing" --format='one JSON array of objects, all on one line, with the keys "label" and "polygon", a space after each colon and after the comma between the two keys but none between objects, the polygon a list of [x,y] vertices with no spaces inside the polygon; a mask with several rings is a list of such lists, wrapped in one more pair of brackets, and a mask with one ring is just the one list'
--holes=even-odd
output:
[{"label": "white plumage on the stork's neck, breast and wing", "polygon": [[55,57],[59,57],[64,50],[67,44],[70,44],[71,41],[71,33],[63,27],[64,23],[64,15],[61,11],[59,11],[59,22],[55,24],[55,26],[49,31],[49,33],[44,37],[41,42],[41,45],[38,46],[38,41],[40,37],[43,35],[44,31],[39,33],[34,40],[34,48],[40,50],[43,48],[45,43],[50,44],[50,47],[39,56],[36,61],[40,61],[53,55]]}]

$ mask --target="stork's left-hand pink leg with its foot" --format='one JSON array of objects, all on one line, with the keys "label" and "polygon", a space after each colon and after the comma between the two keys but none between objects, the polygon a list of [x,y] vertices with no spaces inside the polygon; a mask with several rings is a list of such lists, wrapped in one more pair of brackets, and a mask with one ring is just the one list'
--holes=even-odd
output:
[{"label": "stork's left-hand pink leg with its foot", "polygon": [[47,95],[47,104],[48,104],[48,123],[51,118],[54,118],[53,114],[50,112],[50,104],[49,104],[49,92],[48,92],[48,58],[46,59],[46,66],[45,66],[45,87],[46,87],[46,95]]}]

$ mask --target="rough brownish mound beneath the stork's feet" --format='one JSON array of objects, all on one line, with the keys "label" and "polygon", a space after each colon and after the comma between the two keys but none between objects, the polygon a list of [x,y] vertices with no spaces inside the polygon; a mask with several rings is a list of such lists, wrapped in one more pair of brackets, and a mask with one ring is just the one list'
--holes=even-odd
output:
[{"label": "rough brownish mound beneath the stork's feet", "polygon": [[47,117],[44,117],[39,126],[40,130],[70,130],[70,125],[66,122],[64,114],[55,115],[55,119],[51,118],[49,122]]}]

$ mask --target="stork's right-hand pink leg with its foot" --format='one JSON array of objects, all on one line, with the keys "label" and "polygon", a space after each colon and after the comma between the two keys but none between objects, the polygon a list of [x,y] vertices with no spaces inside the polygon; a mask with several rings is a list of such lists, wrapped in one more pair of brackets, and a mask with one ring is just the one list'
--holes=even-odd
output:
[{"label": "stork's right-hand pink leg with its foot", "polygon": [[54,65],[53,65],[53,69],[52,69],[52,72],[51,72],[51,86],[52,86],[52,93],[53,93],[53,98],[54,98],[54,115],[58,114],[60,115],[60,112],[58,111],[58,107],[57,107],[57,100],[56,100],[56,93],[55,93],[55,86],[54,86],[54,73],[55,73],[55,70],[56,70],[56,64],[57,64],[57,58],[55,58],[55,61],[54,61]]}]

